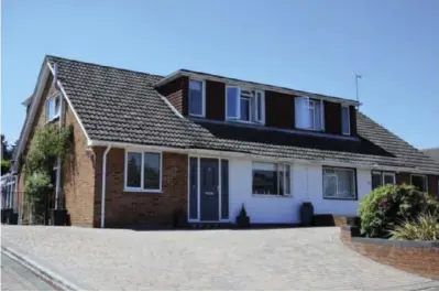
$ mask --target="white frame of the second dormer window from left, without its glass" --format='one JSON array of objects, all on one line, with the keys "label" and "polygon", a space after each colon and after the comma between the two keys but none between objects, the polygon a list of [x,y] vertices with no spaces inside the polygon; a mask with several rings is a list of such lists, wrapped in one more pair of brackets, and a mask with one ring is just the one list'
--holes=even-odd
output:
[{"label": "white frame of the second dormer window from left, without its glass", "polygon": [[[238,90],[238,99],[237,99],[237,116],[229,116],[228,115],[228,89],[235,88]],[[252,96],[242,96],[242,91],[252,91],[254,93]],[[242,122],[242,123],[251,123],[251,125],[265,125],[265,93],[264,90],[253,89],[250,87],[243,87],[239,85],[226,85],[224,91],[224,99],[226,99],[226,121],[233,121],[233,122]],[[241,99],[249,100],[249,120],[241,119]],[[252,100],[253,99],[253,100]],[[257,99],[261,100],[261,117],[257,117],[257,111],[260,110],[260,106]]]}]

